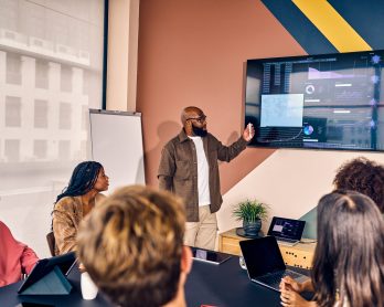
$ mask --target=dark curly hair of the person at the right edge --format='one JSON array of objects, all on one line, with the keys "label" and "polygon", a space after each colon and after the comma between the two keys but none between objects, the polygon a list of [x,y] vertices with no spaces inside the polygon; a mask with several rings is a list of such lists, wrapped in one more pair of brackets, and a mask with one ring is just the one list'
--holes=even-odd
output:
[{"label": "dark curly hair of the person at the right edge", "polygon": [[333,179],[337,189],[370,197],[384,213],[384,167],[364,157],[343,163]]}]

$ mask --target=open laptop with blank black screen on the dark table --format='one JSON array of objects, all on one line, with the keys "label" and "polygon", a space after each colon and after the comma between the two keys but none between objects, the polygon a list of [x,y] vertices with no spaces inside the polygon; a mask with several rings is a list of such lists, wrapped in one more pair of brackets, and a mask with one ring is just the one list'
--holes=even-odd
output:
[{"label": "open laptop with blank black screen on the dark table", "polygon": [[249,279],[279,292],[281,278],[290,276],[299,283],[309,277],[287,269],[277,241],[274,236],[264,236],[239,242]]}]

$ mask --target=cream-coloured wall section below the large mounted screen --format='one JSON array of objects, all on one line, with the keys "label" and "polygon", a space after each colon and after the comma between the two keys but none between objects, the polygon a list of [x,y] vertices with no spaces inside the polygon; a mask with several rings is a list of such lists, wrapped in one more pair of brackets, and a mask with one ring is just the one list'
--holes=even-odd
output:
[{"label": "cream-coloured wall section below the large mounted screen", "polygon": [[[241,226],[232,216],[232,207],[246,198],[270,205],[274,215],[299,219],[332,190],[337,169],[344,161],[364,156],[384,165],[384,154],[352,151],[280,149],[248,173],[223,197],[217,214],[220,232]],[[270,221],[263,224],[263,230]]]}]

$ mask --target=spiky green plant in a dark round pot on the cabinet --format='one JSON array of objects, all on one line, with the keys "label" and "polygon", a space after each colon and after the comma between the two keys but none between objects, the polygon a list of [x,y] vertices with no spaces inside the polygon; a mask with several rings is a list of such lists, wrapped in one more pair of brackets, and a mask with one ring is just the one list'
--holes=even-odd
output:
[{"label": "spiky green plant in a dark round pot on the cabinet", "polygon": [[262,229],[262,221],[267,219],[267,204],[256,199],[245,200],[235,205],[232,213],[237,221],[243,220],[245,235],[257,236]]}]

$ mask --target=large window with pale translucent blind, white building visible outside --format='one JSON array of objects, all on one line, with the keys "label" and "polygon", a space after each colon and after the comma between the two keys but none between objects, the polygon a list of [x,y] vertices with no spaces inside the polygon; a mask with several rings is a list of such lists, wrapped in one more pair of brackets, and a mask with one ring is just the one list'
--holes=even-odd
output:
[{"label": "large window with pale translucent blind, white building visible outside", "polygon": [[105,1],[0,3],[0,216],[46,257],[52,204],[90,159],[83,113],[102,108]]}]

